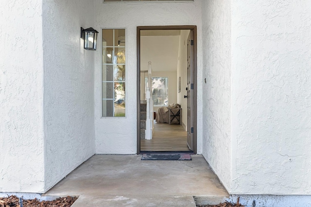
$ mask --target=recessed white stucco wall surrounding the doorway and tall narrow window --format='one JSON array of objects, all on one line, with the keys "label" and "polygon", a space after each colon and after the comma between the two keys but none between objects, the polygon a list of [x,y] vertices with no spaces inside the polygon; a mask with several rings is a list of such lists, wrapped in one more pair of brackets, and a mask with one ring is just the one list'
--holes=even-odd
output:
[{"label": "recessed white stucco wall surrounding the doorway and tall narrow window", "polygon": [[[194,2],[102,3],[95,0],[95,27],[126,29],[126,118],[102,118],[102,57],[95,54],[95,136],[96,153],[135,154],[137,152],[137,26],[197,25],[198,106],[202,106],[201,0]],[[102,31],[99,31],[99,37]],[[99,47],[102,43],[99,42]],[[198,117],[202,109],[198,108]],[[198,153],[202,153],[202,120],[198,118]]]}]

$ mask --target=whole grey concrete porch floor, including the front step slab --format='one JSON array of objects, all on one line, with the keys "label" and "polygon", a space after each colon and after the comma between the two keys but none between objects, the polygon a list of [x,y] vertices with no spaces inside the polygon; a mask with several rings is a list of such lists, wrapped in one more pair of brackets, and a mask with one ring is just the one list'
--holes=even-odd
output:
[{"label": "whole grey concrete porch floor, including the front step slab", "polygon": [[228,198],[206,160],[140,160],[141,155],[94,155],[44,196],[79,196],[72,207],[195,207],[193,196]]}]

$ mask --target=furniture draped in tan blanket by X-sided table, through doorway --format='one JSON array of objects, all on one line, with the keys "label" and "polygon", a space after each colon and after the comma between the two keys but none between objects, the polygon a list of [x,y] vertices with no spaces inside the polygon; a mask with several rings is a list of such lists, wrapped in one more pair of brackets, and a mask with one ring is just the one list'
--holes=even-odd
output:
[{"label": "furniture draped in tan blanket by X-sided table, through doorway", "polygon": [[[168,107],[160,107],[157,111],[156,114],[156,119],[155,122],[156,123],[169,123],[169,124],[175,124],[176,117],[173,117],[173,122],[171,122],[172,120],[170,120],[170,118],[172,119],[172,114],[178,114],[180,113],[180,105],[179,104],[170,104]],[[171,116],[170,116],[170,111],[171,111]],[[179,121],[179,117],[181,117],[181,114],[178,115],[178,123]]]}]

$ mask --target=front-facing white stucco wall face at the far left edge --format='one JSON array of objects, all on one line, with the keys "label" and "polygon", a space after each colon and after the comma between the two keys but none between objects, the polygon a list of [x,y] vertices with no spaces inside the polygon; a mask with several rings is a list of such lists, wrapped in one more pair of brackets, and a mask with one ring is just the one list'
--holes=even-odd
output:
[{"label": "front-facing white stucco wall face at the far left edge", "polygon": [[44,190],[41,0],[1,1],[0,191]]}]

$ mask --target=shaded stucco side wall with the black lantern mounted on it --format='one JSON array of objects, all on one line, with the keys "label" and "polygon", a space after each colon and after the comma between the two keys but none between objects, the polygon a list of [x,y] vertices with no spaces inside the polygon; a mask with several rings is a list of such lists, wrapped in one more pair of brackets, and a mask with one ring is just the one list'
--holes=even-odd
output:
[{"label": "shaded stucco side wall with the black lantern mounted on it", "polygon": [[93,1],[43,2],[45,190],[95,154],[94,51],[80,38],[93,12]]}]

